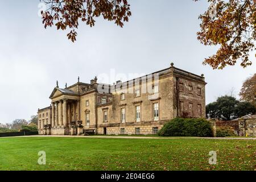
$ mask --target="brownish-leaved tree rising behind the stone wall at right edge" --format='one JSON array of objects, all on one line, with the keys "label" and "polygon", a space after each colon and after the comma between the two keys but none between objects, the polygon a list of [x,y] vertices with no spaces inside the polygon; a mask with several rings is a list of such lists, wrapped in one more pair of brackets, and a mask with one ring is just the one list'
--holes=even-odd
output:
[{"label": "brownish-leaved tree rising behind the stone wall at right edge", "polygon": [[242,101],[247,101],[256,107],[256,73],[243,82],[240,91]]}]

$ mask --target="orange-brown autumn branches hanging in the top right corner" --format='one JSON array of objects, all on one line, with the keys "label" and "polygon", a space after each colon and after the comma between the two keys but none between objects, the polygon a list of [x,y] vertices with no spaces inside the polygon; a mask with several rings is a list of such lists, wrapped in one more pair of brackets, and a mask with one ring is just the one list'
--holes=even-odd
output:
[{"label": "orange-brown autumn branches hanging in the top right corner", "polygon": [[202,22],[198,39],[206,46],[220,48],[215,55],[205,59],[204,64],[213,69],[234,65],[237,60],[241,60],[243,68],[251,65],[253,60],[249,60],[249,53],[255,50],[256,40],[256,0],[208,2],[213,6],[199,16]]}]

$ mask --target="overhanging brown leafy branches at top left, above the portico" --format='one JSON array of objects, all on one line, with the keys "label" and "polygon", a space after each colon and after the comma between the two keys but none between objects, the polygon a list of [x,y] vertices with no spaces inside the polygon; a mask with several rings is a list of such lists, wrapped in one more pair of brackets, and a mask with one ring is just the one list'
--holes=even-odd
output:
[{"label": "overhanging brown leafy branches at top left, above the portico", "polygon": [[85,22],[90,27],[94,26],[95,17],[102,15],[104,19],[114,20],[117,26],[123,27],[123,22],[128,22],[131,16],[130,5],[127,0],[40,0],[46,3],[47,10],[41,12],[44,27],[53,24],[57,30],[71,31],[68,39],[75,42],[79,21]]}]

